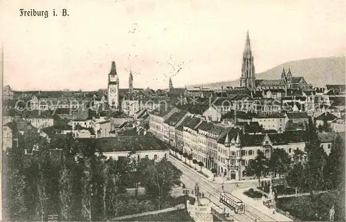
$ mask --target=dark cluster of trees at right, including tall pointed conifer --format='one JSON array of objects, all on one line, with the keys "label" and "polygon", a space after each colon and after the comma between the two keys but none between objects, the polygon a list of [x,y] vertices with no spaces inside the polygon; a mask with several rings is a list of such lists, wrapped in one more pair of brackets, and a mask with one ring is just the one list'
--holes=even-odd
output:
[{"label": "dark cluster of trees at right, including tall pointed conifer", "polygon": [[[320,189],[342,189],[345,184],[345,141],[338,136],[331,146],[329,156],[320,146],[318,130],[309,120],[307,125],[306,154],[295,150],[293,160],[283,149],[274,149],[271,158],[268,159],[262,152],[257,154],[254,160],[250,160],[246,166],[245,174],[256,176],[260,183],[261,176],[267,176],[269,172],[286,176],[286,181],[291,187],[297,187],[304,191]],[[306,161],[304,156],[307,156]]]}]

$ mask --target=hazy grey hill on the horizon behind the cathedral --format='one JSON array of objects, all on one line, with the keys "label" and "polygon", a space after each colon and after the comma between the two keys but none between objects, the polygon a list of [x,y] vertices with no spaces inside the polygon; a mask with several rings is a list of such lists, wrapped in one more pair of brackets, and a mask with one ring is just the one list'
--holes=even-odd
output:
[{"label": "hazy grey hill on the horizon behind the cathedral", "polygon": [[[285,68],[286,71],[288,68],[291,68],[293,76],[302,76],[313,86],[345,84],[345,67],[345,56],[302,59],[285,62],[284,64],[275,66],[263,73],[257,73],[256,79],[279,79],[281,77],[282,68]],[[196,84],[188,86],[188,89],[192,89],[194,86],[203,86],[209,89],[221,89],[221,86],[239,86],[239,79],[233,81],[212,82],[208,84]]]}]

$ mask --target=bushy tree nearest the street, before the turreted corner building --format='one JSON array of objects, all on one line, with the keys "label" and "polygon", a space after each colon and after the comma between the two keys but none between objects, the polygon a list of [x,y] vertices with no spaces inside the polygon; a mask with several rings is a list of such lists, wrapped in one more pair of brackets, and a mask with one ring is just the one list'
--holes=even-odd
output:
[{"label": "bushy tree nearest the street, before the turreted corner building", "polygon": [[245,168],[246,176],[256,176],[258,179],[258,185],[261,185],[261,176],[266,174],[268,167],[268,159],[264,156],[262,151],[259,151],[256,158],[250,160]]}]

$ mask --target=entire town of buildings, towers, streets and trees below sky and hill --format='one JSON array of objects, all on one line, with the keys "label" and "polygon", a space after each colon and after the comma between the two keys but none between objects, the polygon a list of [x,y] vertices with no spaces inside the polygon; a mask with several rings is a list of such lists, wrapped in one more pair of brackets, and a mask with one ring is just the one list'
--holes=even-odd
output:
[{"label": "entire town of buildings, towers, streets and trees below sky and hill", "polygon": [[4,86],[3,219],[345,221],[345,85],[257,79],[250,36],[238,86]]}]

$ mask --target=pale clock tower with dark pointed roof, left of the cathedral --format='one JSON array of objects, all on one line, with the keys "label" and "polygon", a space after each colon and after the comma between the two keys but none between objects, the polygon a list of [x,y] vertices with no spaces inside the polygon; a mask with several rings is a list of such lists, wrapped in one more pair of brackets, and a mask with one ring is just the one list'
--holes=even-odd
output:
[{"label": "pale clock tower with dark pointed roof, left of the cathedral", "polygon": [[112,109],[119,108],[119,78],[114,61],[111,62],[111,71],[108,75],[108,104]]}]

